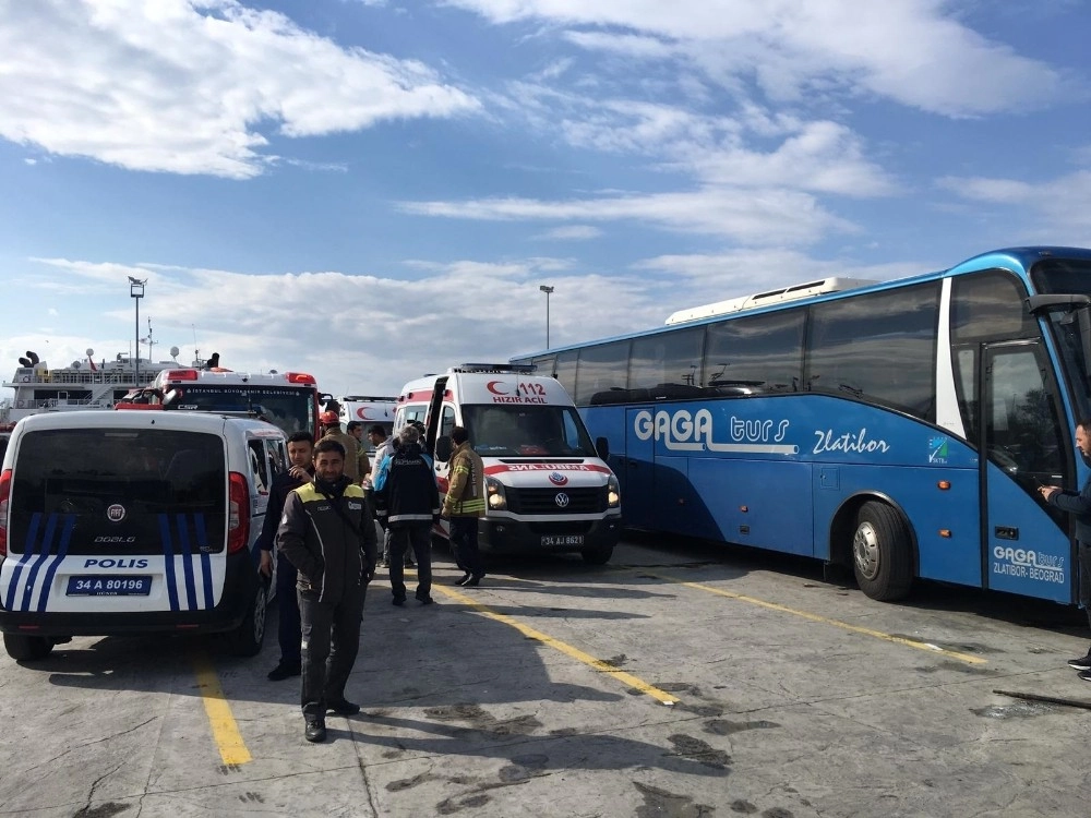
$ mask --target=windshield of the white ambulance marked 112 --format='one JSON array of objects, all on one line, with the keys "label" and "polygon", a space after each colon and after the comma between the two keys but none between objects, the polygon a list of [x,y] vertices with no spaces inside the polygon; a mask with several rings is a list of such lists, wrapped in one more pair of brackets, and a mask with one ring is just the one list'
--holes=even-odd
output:
[{"label": "windshield of the white ambulance marked 112", "polygon": [[463,407],[473,449],[485,457],[595,457],[576,410],[566,406]]}]

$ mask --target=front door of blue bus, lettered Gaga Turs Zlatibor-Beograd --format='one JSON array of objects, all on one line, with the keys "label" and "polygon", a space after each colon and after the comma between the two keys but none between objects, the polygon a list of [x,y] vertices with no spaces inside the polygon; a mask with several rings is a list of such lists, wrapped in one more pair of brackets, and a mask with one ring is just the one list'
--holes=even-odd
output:
[{"label": "front door of blue bus, lettered Gaga Turs Zlatibor-Beograd", "polygon": [[1072,602],[1069,520],[1038,494],[1042,483],[1075,486],[1068,434],[1041,344],[983,345],[980,394],[982,585]]}]

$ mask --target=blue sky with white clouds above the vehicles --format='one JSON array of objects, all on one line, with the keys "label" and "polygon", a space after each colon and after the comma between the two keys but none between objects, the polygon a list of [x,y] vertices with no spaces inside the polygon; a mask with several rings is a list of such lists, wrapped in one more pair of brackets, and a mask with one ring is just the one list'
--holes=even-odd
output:
[{"label": "blue sky with white clouds above the vehicles", "polygon": [[544,348],[540,285],[561,346],[1091,245],[1088,31],[1082,0],[0,0],[0,374],[129,353],[129,275],[156,360],[340,395]]}]

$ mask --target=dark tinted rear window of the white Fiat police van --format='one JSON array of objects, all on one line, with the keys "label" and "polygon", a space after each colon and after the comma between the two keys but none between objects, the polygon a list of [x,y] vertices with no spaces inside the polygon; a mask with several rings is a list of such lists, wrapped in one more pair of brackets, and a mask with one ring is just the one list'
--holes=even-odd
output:
[{"label": "dark tinted rear window of the white Fiat police van", "polygon": [[224,550],[224,444],[200,432],[59,429],[26,434],[12,472],[9,550],[32,554]]}]

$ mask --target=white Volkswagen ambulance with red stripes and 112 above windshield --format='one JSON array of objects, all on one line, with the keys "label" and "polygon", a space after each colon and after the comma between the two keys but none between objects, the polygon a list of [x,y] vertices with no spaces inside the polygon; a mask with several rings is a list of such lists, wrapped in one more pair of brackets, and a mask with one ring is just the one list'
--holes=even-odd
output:
[{"label": "white Volkswagen ambulance with red stripes and 112 above windshield", "polygon": [[466,426],[484,462],[482,551],[578,551],[586,562],[602,565],[621,536],[618,478],[564,387],[532,373],[533,366],[464,363],[411,381],[398,396],[395,433],[423,422],[442,495],[451,430]]}]

